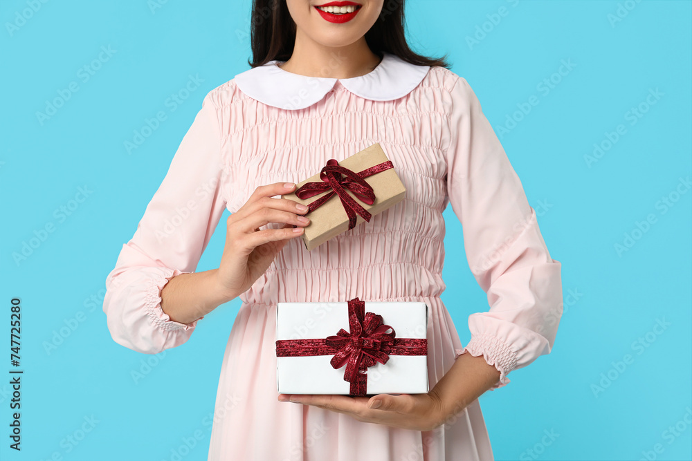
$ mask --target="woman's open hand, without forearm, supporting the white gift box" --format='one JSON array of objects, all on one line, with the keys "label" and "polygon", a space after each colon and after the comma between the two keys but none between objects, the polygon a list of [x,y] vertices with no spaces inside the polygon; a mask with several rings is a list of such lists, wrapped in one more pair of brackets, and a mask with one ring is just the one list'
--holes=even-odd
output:
[{"label": "woman's open hand, without forearm, supporting the white gift box", "polygon": [[280,394],[280,402],[295,402],[351,415],[358,421],[402,429],[431,431],[444,422],[444,406],[435,389],[427,394],[348,395]]}]

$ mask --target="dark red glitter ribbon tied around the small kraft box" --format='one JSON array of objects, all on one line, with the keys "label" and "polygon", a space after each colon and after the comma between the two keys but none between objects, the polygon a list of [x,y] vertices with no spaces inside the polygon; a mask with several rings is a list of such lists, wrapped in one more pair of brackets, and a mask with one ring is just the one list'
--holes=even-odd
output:
[{"label": "dark red glitter ribbon tied around the small kraft box", "polygon": [[349,230],[356,227],[356,219],[358,219],[356,218],[356,213],[361,215],[363,219],[370,223],[370,216],[372,215],[368,213],[365,208],[361,207],[361,205],[359,205],[358,202],[352,198],[352,196],[349,196],[345,189],[352,191],[360,198],[361,202],[367,203],[367,205],[372,205],[375,201],[375,193],[372,190],[372,186],[365,182],[363,178],[367,178],[368,176],[372,176],[375,173],[379,173],[380,171],[385,171],[390,168],[394,168],[394,164],[392,164],[391,160],[388,160],[386,162],[376,164],[374,167],[370,167],[356,173],[342,167],[334,158],[327,160],[327,165],[322,167],[322,170],[320,171],[320,179],[322,182],[306,182],[295,191],[295,195],[298,196],[298,198],[305,199],[316,196],[317,194],[322,194],[322,192],[328,191],[329,189],[331,189],[331,192],[309,203],[307,205],[309,208],[307,213],[302,216],[309,214],[310,211],[320,207],[322,203],[325,203],[332,196],[334,196],[334,194],[337,194],[341,199],[341,204],[346,210],[346,214],[348,215]]}]

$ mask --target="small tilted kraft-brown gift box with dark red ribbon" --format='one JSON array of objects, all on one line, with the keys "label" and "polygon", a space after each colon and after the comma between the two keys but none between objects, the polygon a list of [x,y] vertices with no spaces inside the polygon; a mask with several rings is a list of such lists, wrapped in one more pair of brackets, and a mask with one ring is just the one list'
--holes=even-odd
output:
[{"label": "small tilted kraft-brown gift box with dark red ribbon", "polygon": [[[320,173],[298,182],[289,198],[309,210],[302,241],[310,251],[334,236],[353,229],[406,196],[406,187],[379,143],[337,162],[332,158]],[[318,196],[318,197],[316,197]]]}]

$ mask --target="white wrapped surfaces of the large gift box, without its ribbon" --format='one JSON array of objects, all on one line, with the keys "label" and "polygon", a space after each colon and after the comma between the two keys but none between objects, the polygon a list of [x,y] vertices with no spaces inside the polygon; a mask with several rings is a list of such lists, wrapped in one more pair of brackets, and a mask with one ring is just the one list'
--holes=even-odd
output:
[{"label": "white wrapped surfaces of the large gift box, without its ribbon", "polygon": [[[365,301],[367,312],[379,314],[383,324],[394,329],[397,340],[417,339],[420,344],[427,337],[428,305],[424,302]],[[277,303],[277,341],[325,339],[335,337],[342,329],[351,332],[347,301]],[[276,357],[277,391],[281,394],[349,395],[352,387],[345,380],[346,365],[334,368],[331,364],[333,357],[334,353]],[[397,355],[393,352],[388,357],[385,364],[377,361],[374,366],[367,367],[367,395],[428,392],[427,355]]]}]

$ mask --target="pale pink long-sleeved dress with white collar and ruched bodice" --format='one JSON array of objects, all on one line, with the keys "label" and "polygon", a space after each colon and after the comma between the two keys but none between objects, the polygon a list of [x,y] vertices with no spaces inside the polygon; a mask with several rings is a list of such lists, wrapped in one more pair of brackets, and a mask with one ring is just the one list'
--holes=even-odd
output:
[{"label": "pale pink long-sleeved dress with white collar and ruched bodice", "polygon": [[[430,388],[464,352],[500,370],[493,389],[550,352],[562,313],[561,263],[550,257],[475,93],[446,68],[389,53],[351,79],[306,77],[275,64],[240,73],[204,98],[107,278],[103,309],[113,339],[147,354],[188,341],[197,321],[171,321],[159,295],[172,276],[194,272],[224,209],[237,211],[259,185],[300,182],[330,158],[379,142],[407,189],[405,200],[311,252],[292,239],[241,295],[208,459],[492,460],[477,400],[433,431],[395,429],[278,402],[275,369],[280,301],[425,301]],[[487,312],[469,317],[466,346],[440,299],[448,203],[489,301]],[[180,218],[176,207],[190,216]]]}]

